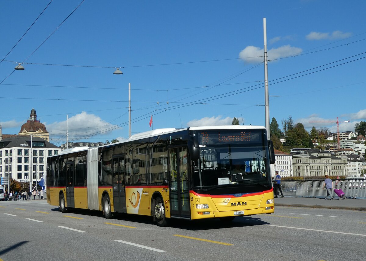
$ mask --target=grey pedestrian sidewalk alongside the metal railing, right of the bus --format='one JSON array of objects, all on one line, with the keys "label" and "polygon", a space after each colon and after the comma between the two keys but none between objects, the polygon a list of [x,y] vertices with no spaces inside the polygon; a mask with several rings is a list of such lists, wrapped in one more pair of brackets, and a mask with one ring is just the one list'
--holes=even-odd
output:
[{"label": "grey pedestrian sidewalk alongside the metal railing, right of the bus", "polygon": [[338,199],[332,200],[317,197],[277,197],[276,206],[336,208],[366,211],[366,199]]}]

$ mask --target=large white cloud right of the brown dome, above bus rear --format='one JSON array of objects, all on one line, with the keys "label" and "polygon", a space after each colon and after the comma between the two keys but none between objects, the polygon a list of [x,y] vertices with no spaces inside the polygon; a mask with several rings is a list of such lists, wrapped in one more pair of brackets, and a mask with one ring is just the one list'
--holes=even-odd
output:
[{"label": "large white cloud right of the brown dome, above bus rear", "polygon": [[[99,137],[108,135],[115,129],[115,125],[109,124],[94,114],[82,112],[68,119],[69,140],[82,137],[81,140],[97,134]],[[67,122],[54,122],[46,125],[46,129],[53,141],[57,138],[66,139]]]}]

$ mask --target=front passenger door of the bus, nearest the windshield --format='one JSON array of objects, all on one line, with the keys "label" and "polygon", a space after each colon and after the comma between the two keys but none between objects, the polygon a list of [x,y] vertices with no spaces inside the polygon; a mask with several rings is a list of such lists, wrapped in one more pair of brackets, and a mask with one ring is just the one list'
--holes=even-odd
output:
[{"label": "front passenger door of the bus, nearest the windshield", "polygon": [[169,149],[169,191],[172,217],[189,218],[187,147]]}]

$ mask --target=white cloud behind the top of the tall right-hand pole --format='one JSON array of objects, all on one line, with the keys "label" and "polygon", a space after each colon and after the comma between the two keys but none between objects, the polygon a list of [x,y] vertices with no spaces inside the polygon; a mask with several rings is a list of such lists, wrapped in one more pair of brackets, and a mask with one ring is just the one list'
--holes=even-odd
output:
[{"label": "white cloud behind the top of the tall right-hand pole", "polygon": [[[302,49],[298,47],[292,47],[290,45],[284,45],[278,48],[272,48],[267,51],[268,60],[278,59],[301,53]],[[249,58],[248,58],[249,57]],[[239,53],[239,58],[243,59],[246,63],[258,63],[264,60],[264,50],[260,47],[247,46]]]}]

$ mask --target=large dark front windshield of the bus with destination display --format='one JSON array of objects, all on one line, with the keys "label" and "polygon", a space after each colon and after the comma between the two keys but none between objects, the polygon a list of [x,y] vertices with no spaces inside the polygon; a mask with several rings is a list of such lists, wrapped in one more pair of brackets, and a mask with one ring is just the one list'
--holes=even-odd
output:
[{"label": "large dark front windshield of the bus with destination display", "polygon": [[211,193],[216,188],[229,192],[240,187],[234,190],[245,193],[272,187],[263,130],[205,131],[198,133],[198,140],[200,157],[193,173],[194,189]]}]

